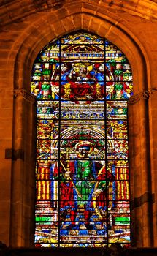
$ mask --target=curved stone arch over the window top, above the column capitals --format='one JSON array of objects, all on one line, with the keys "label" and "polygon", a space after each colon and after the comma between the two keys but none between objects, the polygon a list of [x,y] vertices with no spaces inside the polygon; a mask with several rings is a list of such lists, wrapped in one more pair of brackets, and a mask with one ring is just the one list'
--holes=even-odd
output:
[{"label": "curved stone arch over the window top, above the column capitals", "polygon": [[[58,13],[58,17],[59,16]],[[43,20],[44,22],[42,23],[42,26],[39,25],[39,22],[42,22]],[[147,89],[150,87],[149,85],[146,86],[145,83],[145,80],[150,83],[150,68],[147,53],[141,42],[139,42],[134,34],[131,34],[131,31],[123,26],[117,19],[114,20],[99,12],[98,15],[94,15],[91,13],[91,10],[85,10],[85,12],[74,12],[72,15],[67,15],[65,12],[65,14],[61,16],[61,19],[56,18],[55,22],[53,21],[52,15],[45,15],[42,19],[37,20],[24,31],[18,41],[12,46],[12,50],[18,48],[18,54],[15,61],[15,89],[23,88],[27,90],[26,87],[29,83],[28,80],[23,82],[22,70],[26,70],[27,67],[29,73],[26,77],[30,78],[34,59],[39,51],[47,45],[47,42],[79,29],[85,29],[86,31],[99,34],[101,37],[106,37],[117,45],[118,48],[121,50],[123,49],[123,53],[126,54],[131,63],[134,79],[138,78],[143,81],[143,84],[139,84],[139,80],[134,80],[134,83],[138,85],[135,89],[136,92],[140,91],[140,89]],[[23,61],[21,61],[21,59],[23,59]],[[144,76],[139,78],[140,74],[136,74],[139,63],[142,63],[140,70],[142,74],[145,74],[145,78]],[[145,70],[147,70],[147,72],[145,72]]]}]

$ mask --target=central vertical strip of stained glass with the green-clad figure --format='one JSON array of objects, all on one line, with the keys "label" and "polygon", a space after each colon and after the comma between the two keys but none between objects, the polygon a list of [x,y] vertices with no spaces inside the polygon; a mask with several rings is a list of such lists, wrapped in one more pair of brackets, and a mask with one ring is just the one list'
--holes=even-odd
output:
[{"label": "central vertical strip of stained glass with the green-clad figure", "polygon": [[104,138],[104,41],[83,33],[64,37],[61,45],[61,246],[107,244],[107,224],[100,225],[99,220],[106,209]]}]

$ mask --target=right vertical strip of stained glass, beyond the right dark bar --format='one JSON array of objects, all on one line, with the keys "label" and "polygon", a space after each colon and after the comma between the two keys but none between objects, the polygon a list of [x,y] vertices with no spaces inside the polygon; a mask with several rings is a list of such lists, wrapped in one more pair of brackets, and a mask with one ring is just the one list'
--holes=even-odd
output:
[{"label": "right vertical strip of stained glass, beyond the right dark bar", "polygon": [[107,81],[107,171],[115,181],[108,190],[108,242],[130,243],[129,148],[127,99],[132,90],[131,67],[123,53],[110,42],[105,43],[106,67],[112,73]]}]

